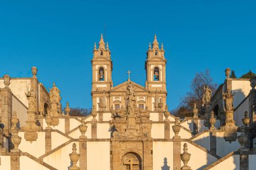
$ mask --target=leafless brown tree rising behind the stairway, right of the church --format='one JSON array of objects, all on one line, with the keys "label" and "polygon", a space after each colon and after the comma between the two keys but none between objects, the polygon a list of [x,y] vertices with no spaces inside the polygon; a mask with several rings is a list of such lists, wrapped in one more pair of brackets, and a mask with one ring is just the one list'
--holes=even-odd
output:
[{"label": "leafless brown tree rising behind the stairway, right of the church", "polygon": [[212,77],[210,76],[210,71],[205,70],[205,72],[196,73],[194,79],[191,81],[190,91],[186,93],[181,99],[176,110],[172,110],[171,113],[175,116],[180,116],[184,118],[185,116],[191,115],[194,103],[197,103],[197,108],[201,110],[202,98],[204,93],[204,86],[208,86],[212,89],[212,94],[216,91],[218,85],[214,83]]}]

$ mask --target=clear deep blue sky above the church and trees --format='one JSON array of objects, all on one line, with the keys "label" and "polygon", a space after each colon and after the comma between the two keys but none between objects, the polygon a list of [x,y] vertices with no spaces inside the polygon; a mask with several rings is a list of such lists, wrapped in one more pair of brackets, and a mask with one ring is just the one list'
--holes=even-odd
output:
[{"label": "clear deep blue sky above the church and trees", "polygon": [[145,85],[144,62],[154,34],[164,43],[168,105],[175,108],[195,73],[256,72],[256,1],[7,1],[0,2],[0,76],[30,77],[61,89],[63,103],[91,107],[91,63],[100,34],[110,46],[113,81]]}]

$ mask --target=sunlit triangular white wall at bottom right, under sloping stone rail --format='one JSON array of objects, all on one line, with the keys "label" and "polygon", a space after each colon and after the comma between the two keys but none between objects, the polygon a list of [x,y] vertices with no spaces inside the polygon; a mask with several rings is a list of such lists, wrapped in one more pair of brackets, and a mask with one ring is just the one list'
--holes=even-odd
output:
[{"label": "sunlit triangular white wall at bottom right, under sloping stone rail", "polygon": [[[240,170],[239,155],[232,155],[232,157],[229,157],[228,159],[210,168],[210,170],[222,170],[222,169]],[[249,169],[249,170],[253,170],[253,169]]]}]

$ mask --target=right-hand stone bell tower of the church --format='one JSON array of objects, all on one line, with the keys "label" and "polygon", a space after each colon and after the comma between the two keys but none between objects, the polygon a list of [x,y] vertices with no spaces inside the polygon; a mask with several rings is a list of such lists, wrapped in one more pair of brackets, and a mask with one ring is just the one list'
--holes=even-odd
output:
[{"label": "right-hand stone bell tower of the church", "polygon": [[[146,69],[146,89],[150,92],[149,109],[162,110],[166,107],[166,59],[164,58],[164,46],[159,48],[156,35],[154,36],[153,46],[148,47]],[[163,103],[163,104],[158,104]],[[162,107],[158,107],[158,105]]]}]

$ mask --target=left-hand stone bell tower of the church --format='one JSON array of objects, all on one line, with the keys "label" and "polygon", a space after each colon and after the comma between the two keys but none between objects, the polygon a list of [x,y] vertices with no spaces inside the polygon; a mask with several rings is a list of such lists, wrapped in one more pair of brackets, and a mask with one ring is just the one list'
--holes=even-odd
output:
[{"label": "left-hand stone bell tower of the church", "polygon": [[109,91],[113,87],[113,63],[108,43],[105,44],[101,34],[98,48],[94,43],[92,58],[92,108],[110,110]]}]

